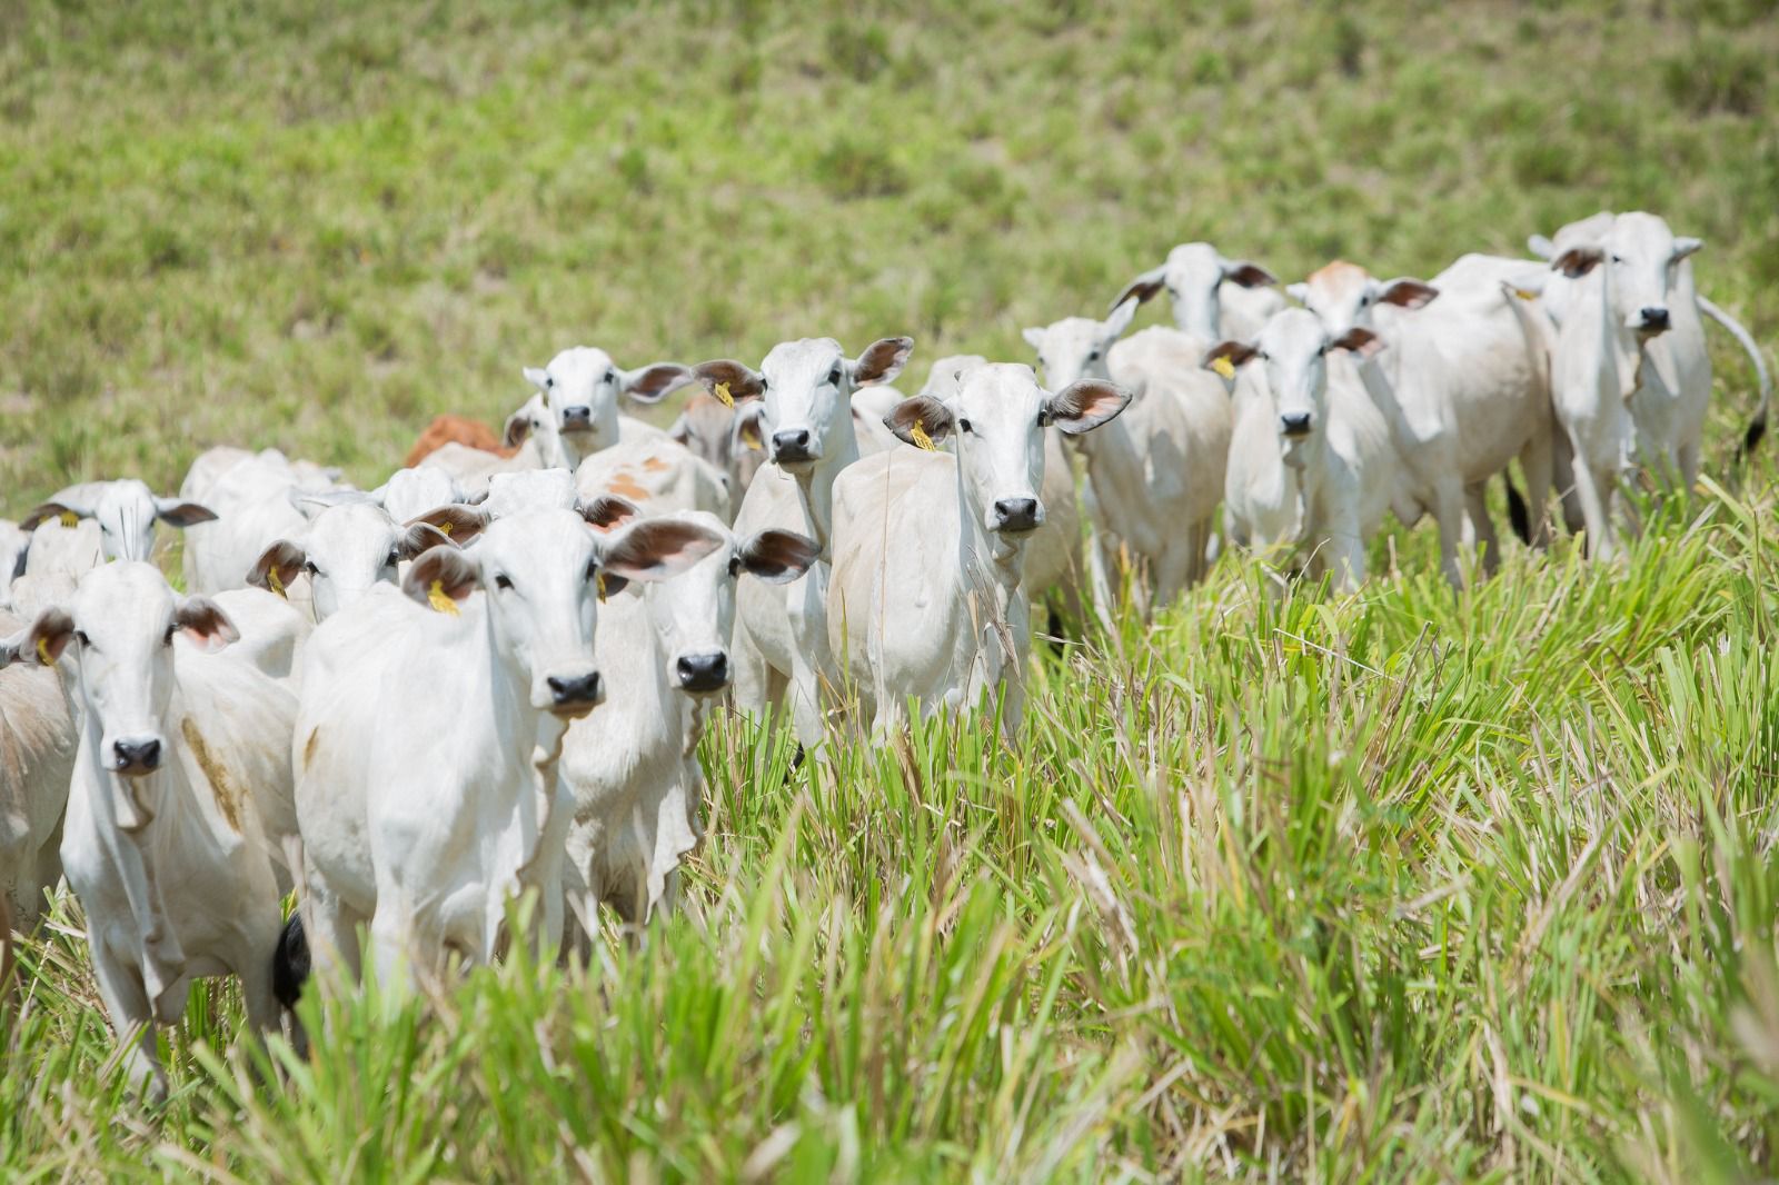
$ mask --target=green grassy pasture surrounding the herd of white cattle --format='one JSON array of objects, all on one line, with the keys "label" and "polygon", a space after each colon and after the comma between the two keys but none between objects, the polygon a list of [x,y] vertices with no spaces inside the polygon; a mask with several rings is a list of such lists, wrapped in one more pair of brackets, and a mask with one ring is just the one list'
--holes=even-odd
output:
[{"label": "green grassy pasture surrounding the herd of white cattle", "polygon": [[[1763,0],[247,9],[0,4],[0,512],[213,443],[375,482],[569,343],[911,333],[913,388],[1192,238],[1432,274],[1649,208],[1779,336]],[[144,1117],[64,902],[0,1016],[0,1174],[1772,1174],[1779,470],[1731,479],[1713,349],[1722,484],[1624,562],[1226,562],[1042,655],[1016,749],[792,772],[726,722],[683,916],[340,1007],[281,1087],[205,988]]]}]

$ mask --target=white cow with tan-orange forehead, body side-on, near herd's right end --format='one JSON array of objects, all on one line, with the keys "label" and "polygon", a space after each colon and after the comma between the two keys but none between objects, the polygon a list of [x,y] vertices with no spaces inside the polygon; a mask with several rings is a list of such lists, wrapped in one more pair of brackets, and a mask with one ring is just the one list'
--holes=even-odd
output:
[{"label": "white cow with tan-orange forehead, body side-on, near herd's right end", "polygon": [[1548,539],[1548,335],[1539,317],[1503,290],[1525,270],[1523,260],[1468,254],[1429,285],[1379,281],[1336,260],[1290,286],[1331,340],[1356,326],[1382,340],[1386,349],[1366,356],[1359,375],[1389,418],[1413,500],[1439,523],[1441,571],[1453,587],[1462,582],[1457,557],[1468,532],[1484,544],[1485,573],[1500,562],[1482,495],[1514,457],[1533,509],[1530,541],[1542,546]]}]

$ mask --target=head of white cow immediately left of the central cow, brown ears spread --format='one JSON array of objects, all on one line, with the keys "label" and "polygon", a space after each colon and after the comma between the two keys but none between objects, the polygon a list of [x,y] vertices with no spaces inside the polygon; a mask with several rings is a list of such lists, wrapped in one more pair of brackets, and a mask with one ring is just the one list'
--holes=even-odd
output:
[{"label": "head of white cow immediately left of the central cow, brown ears spread", "polygon": [[893,383],[913,349],[913,338],[881,338],[847,358],[833,338],[802,338],[774,345],[760,370],[717,359],[697,367],[697,377],[719,399],[722,391],[735,402],[760,399],[767,459],[790,473],[808,473],[852,431],[852,393]]}]

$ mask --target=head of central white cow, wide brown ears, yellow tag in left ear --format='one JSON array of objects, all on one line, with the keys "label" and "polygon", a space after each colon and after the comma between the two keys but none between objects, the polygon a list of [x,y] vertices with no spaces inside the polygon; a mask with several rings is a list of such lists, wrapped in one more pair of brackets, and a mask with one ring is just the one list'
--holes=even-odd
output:
[{"label": "head of central white cow, wide brown ears, yellow tag in left ear", "polygon": [[1099,379],[1075,383],[1060,395],[1037,384],[1030,367],[994,363],[962,372],[957,393],[897,404],[884,425],[907,443],[955,438],[964,496],[982,516],[984,530],[1025,534],[1044,523],[1044,429],[1055,423],[1080,436],[1130,404],[1130,391]]}]

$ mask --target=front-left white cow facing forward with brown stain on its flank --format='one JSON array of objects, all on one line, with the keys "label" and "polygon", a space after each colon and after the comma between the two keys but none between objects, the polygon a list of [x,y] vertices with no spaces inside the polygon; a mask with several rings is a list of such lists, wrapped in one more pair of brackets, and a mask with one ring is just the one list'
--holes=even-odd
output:
[{"label": "front-left white cow facing forward with brown stain on its flank", "polygon": [[112,1027],[141,1032],[126,1071],[153,1100],[167,1091],[153,1025],[178,1021],[194,979],[238,975],[249,1023],[278,1023],[279,886],[260,804],[290,795],[295,697],[208,653],[233,639],[221,609],[139,560],[93,569],[27,635],[46,665],[73,648],[62,865]]}]

